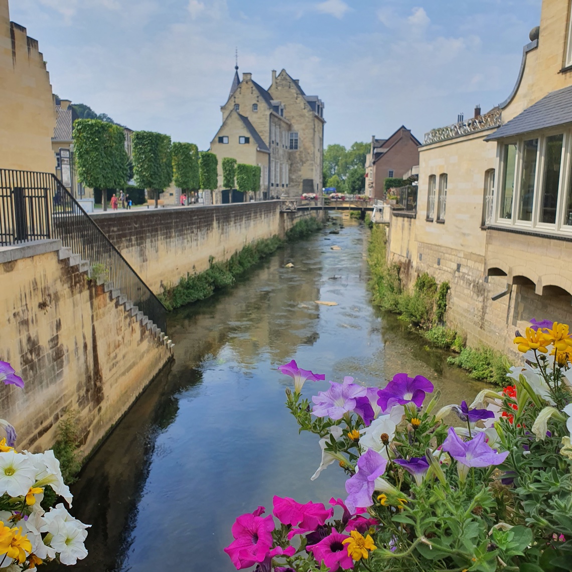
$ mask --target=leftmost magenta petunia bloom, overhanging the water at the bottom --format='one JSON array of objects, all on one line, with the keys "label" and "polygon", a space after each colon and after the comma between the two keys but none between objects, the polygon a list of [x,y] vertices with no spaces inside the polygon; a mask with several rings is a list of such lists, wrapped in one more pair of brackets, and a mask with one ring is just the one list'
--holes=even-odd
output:
[{"label": "leftmost magenta petunia bloom, overhanging the water at the bottom", "polygon": [[241,515],[232,525],[235,538],[224,551],[229,555],[237,570],[249,568],[263,562],[272,548],[272,515],[261,517],[264,507],[258,507],[253,513]]}]

